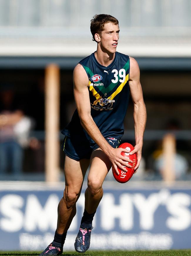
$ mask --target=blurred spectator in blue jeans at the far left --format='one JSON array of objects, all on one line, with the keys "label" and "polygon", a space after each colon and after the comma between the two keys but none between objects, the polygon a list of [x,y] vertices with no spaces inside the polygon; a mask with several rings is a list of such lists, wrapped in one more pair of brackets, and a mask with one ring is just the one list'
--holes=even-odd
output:
[{"label": "blurred spectator in blue jeans at the far left", "polygon": [[32,123],[16,102],[12,85],[1,85],[0,99],[0,174],[11,169],[18,175],[22,172],[23,147],[28,145]]}]

